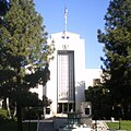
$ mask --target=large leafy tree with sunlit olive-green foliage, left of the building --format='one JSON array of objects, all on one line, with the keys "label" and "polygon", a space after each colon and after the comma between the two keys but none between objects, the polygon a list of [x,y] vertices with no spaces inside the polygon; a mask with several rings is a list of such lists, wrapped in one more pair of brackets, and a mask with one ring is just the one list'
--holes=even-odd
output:
[{"label": "large leafy tree with sunlit olive-green foliage, left of the building", "polygon": [[0,95],[16,103],[17,127],[22,131],[22,107],[26,106],[23,99],[35,98],[29,88],[37,84],[45,85],[48,81],[48,62],[53,47],[46,44],[43,17],[35,11],[33,0],[10,0],[2,21]]}]

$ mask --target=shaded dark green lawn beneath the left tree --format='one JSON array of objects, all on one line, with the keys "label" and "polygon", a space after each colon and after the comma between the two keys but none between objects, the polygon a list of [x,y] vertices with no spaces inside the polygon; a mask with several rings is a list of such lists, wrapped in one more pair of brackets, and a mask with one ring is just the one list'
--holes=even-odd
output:
[{"label": "shaded dark green lawn beneath the left tree", "polygon": [[[31,123],[31,131],[36,131],[37,123]],[[5,124],[0,126],[0,131],[17,131],[16,122],[8,122]],[[23,123],[23,131],[28,131],[28,123]]]}]

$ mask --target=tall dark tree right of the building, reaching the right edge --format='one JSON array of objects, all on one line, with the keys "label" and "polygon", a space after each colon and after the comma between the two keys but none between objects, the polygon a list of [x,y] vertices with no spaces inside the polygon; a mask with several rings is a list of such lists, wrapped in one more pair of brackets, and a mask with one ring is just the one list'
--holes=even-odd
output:
[{"label": "tall dark tree right of the building, reaching the right edge", "polygon": [[112,106],[120,105],[126,117],[131,106],[131,1],[111,0],[105,20],[105,33],[98,29],[98,41],[105,45],[104,84]]}]

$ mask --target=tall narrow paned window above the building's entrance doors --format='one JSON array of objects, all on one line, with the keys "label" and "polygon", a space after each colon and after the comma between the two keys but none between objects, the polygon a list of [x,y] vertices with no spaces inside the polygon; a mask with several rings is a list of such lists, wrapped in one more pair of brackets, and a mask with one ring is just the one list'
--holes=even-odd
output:
[{"label": "tall narrow paned window above the building's entrance doors", "polygon": [[74,51],[58,50],[57,55],[58,103],[74,103]]}]

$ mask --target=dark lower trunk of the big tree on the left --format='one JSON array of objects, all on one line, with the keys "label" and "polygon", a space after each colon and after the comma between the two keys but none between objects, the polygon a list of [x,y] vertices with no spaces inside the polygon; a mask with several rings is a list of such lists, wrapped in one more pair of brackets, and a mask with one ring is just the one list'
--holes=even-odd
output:
[{"label": "dark lower trunk of the big tree on the left", "polygon": [[17,131],[23,131],[22,107],[19,104],[16,105],[16,117],[17,117]]}]

